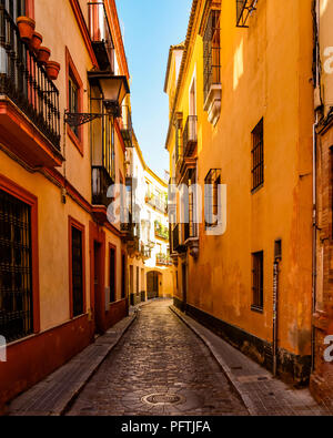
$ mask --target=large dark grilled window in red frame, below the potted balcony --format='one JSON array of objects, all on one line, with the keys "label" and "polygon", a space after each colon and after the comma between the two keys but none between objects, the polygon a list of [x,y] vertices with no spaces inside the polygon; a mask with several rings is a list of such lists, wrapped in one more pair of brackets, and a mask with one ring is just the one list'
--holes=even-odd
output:
[{"label": "large dark grilled window in red frame, below the potted balcony", "polygon": [[32,333],[31,207],[0,191],[0,335]]}]

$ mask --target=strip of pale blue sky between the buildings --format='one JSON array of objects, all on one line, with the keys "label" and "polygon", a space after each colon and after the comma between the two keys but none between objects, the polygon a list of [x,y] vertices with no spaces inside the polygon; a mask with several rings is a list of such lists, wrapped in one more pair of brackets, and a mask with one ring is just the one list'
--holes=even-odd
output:
[{"label": "strip of pale blue sky between the buildings", "polygon": [[133,125],[147,164],[164,176],[169,48],[184,41],[192,0],[115,0],[131,74]]}]

